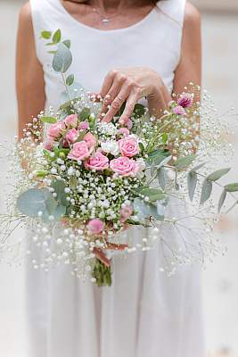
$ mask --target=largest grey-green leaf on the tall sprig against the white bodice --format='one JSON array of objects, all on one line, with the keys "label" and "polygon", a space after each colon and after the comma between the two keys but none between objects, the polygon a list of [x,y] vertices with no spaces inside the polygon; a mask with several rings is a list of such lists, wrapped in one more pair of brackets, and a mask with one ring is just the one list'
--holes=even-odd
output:
[{"label": "largest grey-green leaf on the tall sprig against the white bodice", "polygon": [[58,73],[65,73],[69,70],[72,63],[70,49],[64,44],[58,46],[56,54],[53,56],[53,70]]}]

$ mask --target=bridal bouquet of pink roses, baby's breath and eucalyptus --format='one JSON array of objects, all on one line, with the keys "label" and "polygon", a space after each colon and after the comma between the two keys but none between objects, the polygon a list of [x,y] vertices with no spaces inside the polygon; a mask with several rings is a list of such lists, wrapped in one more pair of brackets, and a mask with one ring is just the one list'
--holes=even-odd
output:
[{"label": "bridal bouquet of pink roses, baby's breath and eucalyptus", "polygon": [[[42,36],[49,39],[52,34],[44,31]],[[70,91],[74,76],[65,75],[71,63],[70,41],[61,42],[58,30],[49,45],[57,46],[52,51],[53,69],[62,74],[69,100],[58,110],[50,108],[34,118],[9,154],[17,183],[8,213],[1,216],[0,249],[8,247],[12,224],[21,223],[32,231],[31,239],[43,252],[41,262],[32,260],[35,269],[48,270],[64,262],[78,277],[110,286],[114,253],[146,251],[158,239],[168,246],[166,237],[160,236],[162,226],[174,227],[183,220],[169,217],[171,199],[181,204],[190,200],[192,211],[185,216],[201,220],[209,236],[217,220],[209,203],[212,187],[230,169],[206,171],[209,156],[214,162],[210,148],[217,153],[227,146],[222,131],[214,137],[212,126],[206,125],[203,142],[199,137],[200,88],[185,88],[183,94],[174,95],[160,120],[136,104],[127,123],[119,120],[123,108],[105,123],[98,119],[100,95]],[[236,191],[238,183],[223,187],[218,212],[226,195]],[[127,230],[132,227],[142,227],[146,237],[130,242]],[[192,236],[193,227],[187,229]],[[193,239],[195,249],[172,251],[172,265],[193,258],[204,261],[211,244],[208,238],[202,245],[201,235]]]}]

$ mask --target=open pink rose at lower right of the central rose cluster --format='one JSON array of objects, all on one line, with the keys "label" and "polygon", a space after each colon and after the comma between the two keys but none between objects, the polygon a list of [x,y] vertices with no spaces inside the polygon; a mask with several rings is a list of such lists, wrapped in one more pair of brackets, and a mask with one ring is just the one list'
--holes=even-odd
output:
[{"label": "open pink rose at lower right of the central rose cluster", "polygon": [[111,160],[110,168],[121,176],[135,176],[138,171],[138,165],[135,160],[128,157],[119,157],[118,159]]}]

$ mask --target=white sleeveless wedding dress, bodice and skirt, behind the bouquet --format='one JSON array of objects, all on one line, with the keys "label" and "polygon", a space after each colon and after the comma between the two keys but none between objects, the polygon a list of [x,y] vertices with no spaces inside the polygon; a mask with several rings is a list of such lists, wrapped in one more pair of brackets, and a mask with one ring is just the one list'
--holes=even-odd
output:
[{"label": "white sleeveless wedding dress, bodice and skirt, behind the bouquet", "polygon": [[[73,19],[60,0],[31,0],[38,60],[45,73],[46,106],[61,104],[61,78],[51,69],[43,29],[71,40],[70,72],[98,92],[108,71],[146,66],[168,89],[180,58],[185,0],[158,3],[127,29],[100,30]],[[36,84],[37,85],[37,84]],[[171,214],[176,207],[170,207]],[[136,231],[137,232],[137,231]],[[129,235],[136,235],[131,229]],[[169,240],[176,232],[168,230]],[[160,272],[160,246],[128,259],[114,257],[113,284],[82,283],[61,266],[45,273],[27,267],[30,357],[203,357],[200,272]]]}]

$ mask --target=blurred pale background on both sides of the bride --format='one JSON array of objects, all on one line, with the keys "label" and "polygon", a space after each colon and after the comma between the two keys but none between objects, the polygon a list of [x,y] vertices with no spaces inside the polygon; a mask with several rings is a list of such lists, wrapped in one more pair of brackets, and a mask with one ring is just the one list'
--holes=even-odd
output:
[{"label": "blurred pale background on both sides of the bride", "polygon": [[[0,0],[0,142],[16,133],[14,55],[18,12],[23,3]],[[219,110],[226,112],[234,106],[238,112],[238,1],[193,0],[193,4],[202,14],[203,87],[212,94]],[[237,181],[238,131],[232,139],[236,154],[229,179]],[[2,162],[0,168],[4,172]],[[226,231],[223,235],[217,231],[217,236],[227,245],[228,252],[203,272],[205,357],[238,357],[238,210],[222,220],[219,227]],[[30,357],[24,301],[23,269],[0,266],[1,357]]]}]

